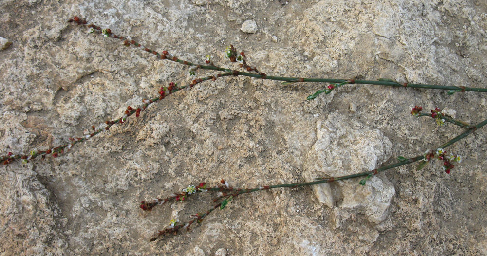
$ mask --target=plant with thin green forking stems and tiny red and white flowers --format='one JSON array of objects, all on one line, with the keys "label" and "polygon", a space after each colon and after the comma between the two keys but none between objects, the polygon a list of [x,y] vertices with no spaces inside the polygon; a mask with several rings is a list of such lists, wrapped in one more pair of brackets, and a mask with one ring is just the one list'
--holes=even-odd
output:
[{"label": "plant with thin green forking stems and tiny red and white flowers", "polygon": [[[131,40],[127,37],[123,36],[118,36],[112,33],[110,29],[102,29],[94,24],[88,24],[88,22],[85,19],[79,18],[79,17],[74,17],[73,19],[68,20],[68,22],[75,23],[77,25],[80,25],[80,27],[87,27],[89,29],[90,34],[97,34],[97,35],[102,35],[105,38],[115,38],[119,39],[122,41],[124,46],[130,47],[134,46],[136,48],[143,49],[144,51],[153,54],[156,56],[157,59],[164,59],[164,60],[169,60],[169,61],[174,61],[186,66],[189,66],[189,75],[194,76],[197,74],[199,70],[210,70],[213,72],[217,72],[211,75],[207,75],[205,77],[201,78],[196,78],[192,80],[191,83],[187,85],[181,85],[178,86],[177,83],[174,82],[169,82],[168,86],[163,86],[158,90],[158,93],[156,96],[150,99],[143,99],[142,100],[142,105],[139,107],[131,107],[128,106],[127,109],[124,111],[123,116],[112,120],[112,121],[105,121],[104,123],[98,125],[97,127],[92,126],[93,132],[90,134],[87,134],[83,137],[75,137],[75,138],[69,138],[68,143],[60,146],[55,146],[47,150],[31,150],[29,154],[13,154],[11,152],[8,152],[4,157],[1,158],[1,162],[4,165],[10,164],[14,162],[15,160],[21,159],[23,163],[27,163],[29,160],[33,160],[38,156],[41,156],[42,159],[45,158],[46,155],[52,155],[52,157],[58,157],[60,154],[64,153],[65,151],[69,151],[72,149],[73,146],[75,146],[78,143],[84,142],[88,139],[91,139],[98,133],[102,131],[108,131],[113,125],[116,124],[124,124],[127,122],[128,118],[135,114],[136,117],[140,116],[141,112],[146,110],[151,104],[159,102],[163,100],[165,97],[183,90],[183,89],[191,89],[195,85],[205,82],[207,80],[215,80],[218,79],[219,77],[223,76],[247,76],[247,77],[252,77],[252,78],[258,78],[258,79],[268,79],[268,80],[276,80],[276,81],[283,81],[283,85],[290,85],[298,82],[314,82],[314,83],[329,83],[324,89],[318,90],[312,95],[309,95],[307,97],[307,100],[313,100],[316,97],[318,97],[319,94],[321,93],[331,93],[333,90],[347,85],[347,84],[363,84],[363,85],[383,85],[383,86],[393,86],[393,87],[404,87],[404,88],[422,88],[422,89],[434,89],[434,90],[447,90],[447,94],[454,94],[456,92],[466,92],[466,91],[472,91],[472,92],[487,92],[487,88],[472,88],[472,87],[464,87],[464,86],[441,86],[441,85],[429,85],[429,84],[413,84],[413,83],[399,83],[394,80],[390,79],[378,79],[378,80],[358,80],[358,79],[335,79],[335,78],[303,78],[303,77],[282,77],[282,76],[270,76],[265,73],[260,72],[255,66],[251,66],[247,63],[246,55],[242,51],[238,53],[238,51],[235,49],[233,45],[230,45],[226,48],[225,50],[225,56],[228,58],[231,62],[238,62],[239,67],[242,68],[244,71],[239,71],[235,69],[229,69],[229,68],[223,68],[216,66],[213,63],[213,59],[210,55],[206,55],[205,57],[205,64],[195,64],[186,60],[182,60],[172,54],[170,54],[167,50],[161,51],[161,53],[156,52],[154,50],[151,50],[138,42]],[[251,73],[247,73],[251,72]],[[189,230],[190,226],[194,222],[201,222],[203,219],[209,215],[213,210],[220,208],[224,209],[226,205],[234,200],[236,197],[238,197],[241,194],[248,194],[252,192],[257,192],[261,190],[268,190],[268,189],[273,189],[273,188],[280,188],[280,187],[288,187],[288,188],[296,188],[296,187],[301,187],[301,186],[310,186],[310,185],[315,185],[315,184],[320,184],[320,183],[331,183],[331,182],[336,182],[339,180],[346,180],[346,179],[352,179],[352,178],[358,178],[358,177],[364,177],[362,180],[360,180],[359,184],[365,185],[367,183],[367,180],[372,178],[374,175],[378,174],[379,172],[392,169],[401,165],[407,165],[411,164],[414,162],[420,161],[419,165],[417,166],[417,170],[422,169],[424,166],[426,166],[428,163],[430,163],[433,159],[441,160],[443,162],[443,170],[446,173],[450,173],[451,169],[455,167],[456,163],[461,163],[462,158],[459,155],[455,155],[453,153],[447,154],[447,151],[445,148],[448,146],[454,144],[455,142],[461,140],[462,138],[468,136],[469,134],[475,132],[478,128],[481,128],[487,124],[487,119],[478,123],[477,125],[470,125],[466,122],[456,120],[453,118],[448,117],[443,113],[440,109],[436,108],[435,110],[431,110],[431,113],[423,113],[421,112],[423,110],[422,107],[415,106],[411,114],[415,117],[420,117],[420,116],[429,116],[435,120],[435,122],[438,125],[444,125],[445,123],[452,123],[454,125],[460,126],[461,128],[466,128],[464,132],[462,132],[460,135],[456,136],[455,138],[451,139],[450,141],[446,142],[445,144],[438,146],[434,149],[429,149],[425,153],[420,154],[415,157],[411,158],[406,158],[399,156],[398,162],[391,164],[391,165],[385,165],[381,166],[377,169],[374,169],[372,171],[366,171],[366,172],[359,172],[356,174],[351,174],[351,175],[346,175],[346,176],[340,176],[340,177],[326,177],[326,178],[317,178],[316,181],[313,182],[306,182],[306,183],[282,183],[282,184],[275,184],[275,185],[261,185],[256,188],[233,188],[231,187],[228,182],[225,182],[225,180],[221,180],[221,182],[215,186],[215,187],[209,187],[206,185],[206,183],[199,183],[198,185],[189,185],[186,188],[182,189],[180,192],[174,193],[170,195],[169,197],[165,199],[159,199],[155,198],[152,199],[151,201],[142,201],[139,207],[144,210],[144,211],[150,211],[152,208],[154,208],[157,205],[165,204],[168,201],[179,201],[179,202],[184,202],[187,200],[187,198],[192,197],[194,195],[197,195],[199,193],[203,192],[217,192],[217,197],[213,200],[213,205],[211,205],[206,212],[199,212],[194,215],[192,215],[192,220],[187,221],[187,222],[180,222],[178,219],[171,219],[169,221],[169,224],[167,228],[163,230],[159,230],[154,238],[151,240],[155,240],[157,238],[160,238],[161,236],[165,234],[177,234],[178,231],[180,230]]]}]

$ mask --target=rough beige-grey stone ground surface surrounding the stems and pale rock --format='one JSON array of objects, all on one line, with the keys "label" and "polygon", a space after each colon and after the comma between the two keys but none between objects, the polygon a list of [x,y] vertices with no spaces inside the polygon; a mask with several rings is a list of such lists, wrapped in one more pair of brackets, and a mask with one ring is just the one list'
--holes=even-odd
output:
[{"label": "rough beige-grey stone ground surface surrounding the stems and pale rock", "polygon": [[[0,153],[64,144],[120,117],[128,105],[140,106],[170,81],[191,81],[179,64],[68,24],[74,15],[157,51],[198,63],[210,54],[215,64],[238,68],[224,58],[231,43],[269,75],[487,84],[485,1],[203,2],[1,1],[0,35],[15,45],[0,51]],[[240,31],[249,19],[259,21],[256,34]],[[207,74],[213,73],[198,72]],[[471,92],[349,85],[305,101],[323,86],[219,78],[167,97],[58,158],[1,166],[0,253],[486,255],[486,128],[448,149],[465,157],[450,175],[439,163],[421,171],[407,165],[359,188],[364,201],[380,206],[391,193],[379,192],[393,186],[387,211],[356,206],[350,194],[330,208],[312,188],[269,190],[235,199],[188,233],[148,242],[171,218],[205,211],[211,196],[152,212],[138,208],[142,200],[203,181],[253,187],[308,179],[304,164],[318,141],[318,121],[336,119],[337,128],[354,133],[344,137],[365,137],[356,124],[387,137],[391,152],[383,146],[376,162],[354,164],[368,169],[461,132],[412,118],[414,105],[448,107],[472,123],[486,118],[486,95]],[[375,134],[368,143],[386,141]],[[331,149],[343,149],[338,141]]]}]

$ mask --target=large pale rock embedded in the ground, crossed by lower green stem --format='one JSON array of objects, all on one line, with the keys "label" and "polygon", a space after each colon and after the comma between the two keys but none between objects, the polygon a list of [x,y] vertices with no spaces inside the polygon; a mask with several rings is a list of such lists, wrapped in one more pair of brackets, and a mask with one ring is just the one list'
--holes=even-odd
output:
[{"label": "large pale rock embedded in the ground, crossed by lower green stem", "polygon": [[[379,167],[391,154],[392,144],[377,129],[330,114],[317,122],[317,140],[308,152],[303,176],[308,181],[318,177],[337,177],[370,171]],[[393,185],[383,174],[374,176],[365,186],[359,179],[313,186],[318,201],[340,210],[360,210],[369,221],[380,223],[395,194]],[[341,201],[336,205],[337,201]],[[339,224],[338,224],[339,225]]]}]

